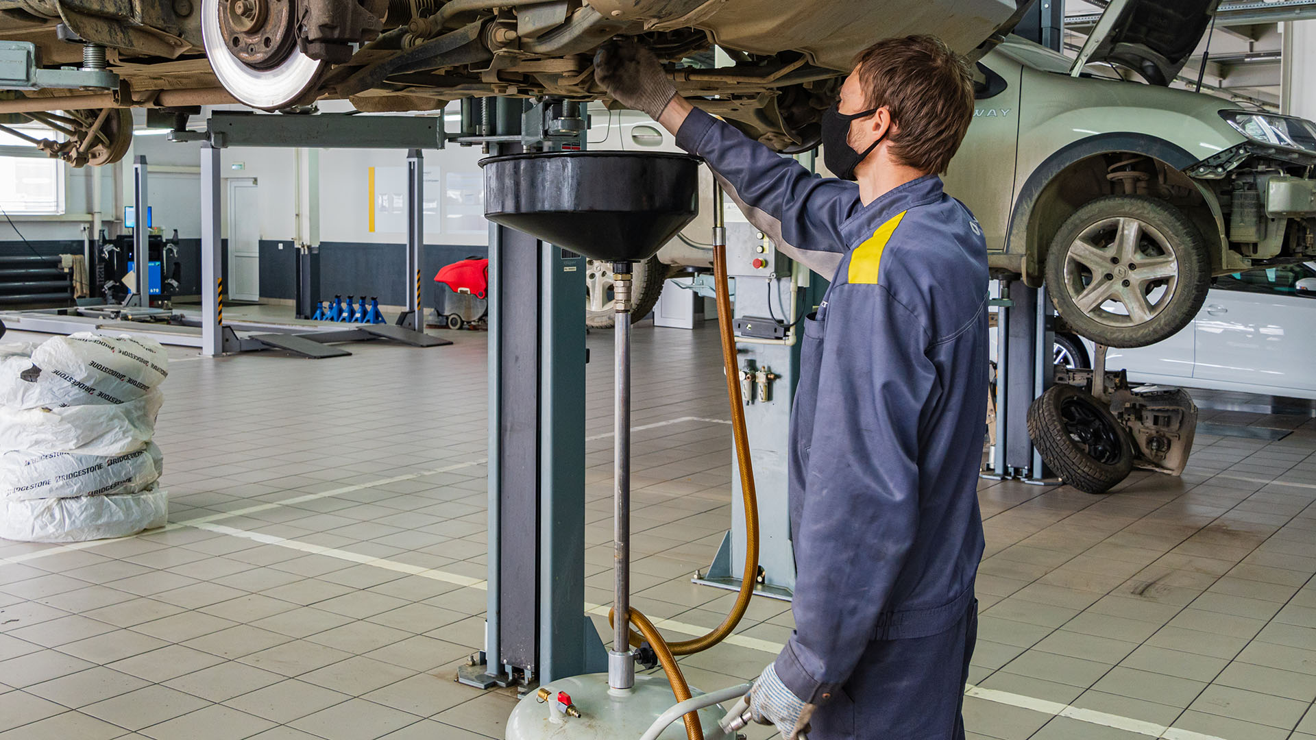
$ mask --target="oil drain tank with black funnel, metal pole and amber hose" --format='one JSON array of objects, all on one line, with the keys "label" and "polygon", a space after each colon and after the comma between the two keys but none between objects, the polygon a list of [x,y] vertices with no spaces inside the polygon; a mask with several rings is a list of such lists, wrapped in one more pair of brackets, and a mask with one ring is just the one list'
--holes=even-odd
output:
[{"label": "oil drain tank with black funnel, metal pole and amber hose", "polygon": [[[630,269],[654,253],[699,208],[699,159],[680,154],[565,151],[491,157],[484,167],[486,216],[538,240],[600,262],[615,271],[615,637],[608,673],[553,681],[522,698],[507,726],[508,740],[687,740],[734,737],[745,724],[744,683],[694,695],[675,657],[708,649],[740,623],[749,607],[758,569],[758,514],[749,440],[741,406],[726,290],[721,192],[715,194],[715,277],[732,428],[747,517],[745,577],[736,606],[716,629],[694,640],[667,643],[629,603],[630,545]],[[632,625],[638,629],[632,629]],[[637,656],[657,660],[666,679],[636,675]],[[675,698],[676,704],[672,706]],[[741,698],[730,712],[719,702]],[[707,731],[705,731],[707,728]]]}]

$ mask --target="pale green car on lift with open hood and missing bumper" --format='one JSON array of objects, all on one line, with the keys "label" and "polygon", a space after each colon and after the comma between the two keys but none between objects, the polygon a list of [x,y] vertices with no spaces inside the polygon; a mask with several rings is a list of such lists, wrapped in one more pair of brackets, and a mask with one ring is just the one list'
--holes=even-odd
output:
[{"label": "pale green car on lift with open hood and missing bumper", "polygon": [[1012,36],[978,63],[946,190],[994,274],[1098,344],[1166,340],[1212,278],[1316,255],[1316,124],[1167,87],[1216,3],[1112,0],[1076,59]]}]

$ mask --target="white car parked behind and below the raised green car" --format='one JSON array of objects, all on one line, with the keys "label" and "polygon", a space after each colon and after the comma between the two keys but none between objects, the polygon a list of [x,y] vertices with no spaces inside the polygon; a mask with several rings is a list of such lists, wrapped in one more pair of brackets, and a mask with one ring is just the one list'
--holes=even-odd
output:
[{"label": "white car parked behind and below the raised green car", "polygon": [[1105,365],[1134,382],[1316,399],[1313,325],[1316,262],[1234,273],[1177,334],[1112,348]]}]

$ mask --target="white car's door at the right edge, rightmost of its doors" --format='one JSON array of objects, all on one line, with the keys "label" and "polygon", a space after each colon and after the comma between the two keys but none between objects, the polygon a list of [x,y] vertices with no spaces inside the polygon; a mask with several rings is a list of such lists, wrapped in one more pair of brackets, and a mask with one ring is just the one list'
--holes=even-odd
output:
[{"label": "white car's door at the right edge, rightmost of its doors", "polygon": [[1313,277],[1309,265],[1286,265],[1217,278],[1196,319],[1194,379],[1279,395],[1316,391],[1316,299],[1298,291],[1298,280]]}]

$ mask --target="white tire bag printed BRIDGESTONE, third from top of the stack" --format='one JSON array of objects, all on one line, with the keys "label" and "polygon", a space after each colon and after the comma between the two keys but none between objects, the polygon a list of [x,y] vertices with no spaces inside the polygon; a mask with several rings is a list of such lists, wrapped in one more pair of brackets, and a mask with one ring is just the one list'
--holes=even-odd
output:
[{"label": "white tire bag printed BRIDGESTONE, third from top of the stack", "polygon": [[0,453],[0,498],[66,499],[136,494],[159,479],[155,442],[114,457],[11,450]]}]

